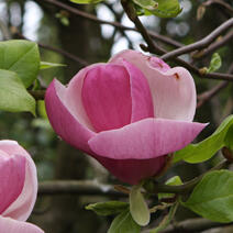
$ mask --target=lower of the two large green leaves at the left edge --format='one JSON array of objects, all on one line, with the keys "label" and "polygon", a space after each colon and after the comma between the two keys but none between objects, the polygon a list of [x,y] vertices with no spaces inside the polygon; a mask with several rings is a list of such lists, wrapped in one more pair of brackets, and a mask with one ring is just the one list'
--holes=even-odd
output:
[{"label": "lower of the two large green leaves at the left edge", "polygon": [[0,109],[10,112],[29,111],[35,115],[35,100],[16,73],[0,69]]}]

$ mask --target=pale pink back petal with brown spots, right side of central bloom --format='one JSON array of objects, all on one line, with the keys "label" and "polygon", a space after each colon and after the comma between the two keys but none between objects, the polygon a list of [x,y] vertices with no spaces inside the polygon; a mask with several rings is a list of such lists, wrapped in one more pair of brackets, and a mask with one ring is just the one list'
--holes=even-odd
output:
[{"label": "pale pink back petal with brown spots, right side of central bloom", "polygon": [[197,96],[195,82],[189,71],[182,67],[158,68],[154,58],[135,51],[123,51],[110,63],[121,64],[122,58],[135,65],[147,78],[156,118],[192,121]]}]

